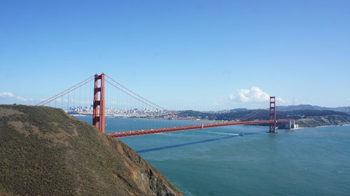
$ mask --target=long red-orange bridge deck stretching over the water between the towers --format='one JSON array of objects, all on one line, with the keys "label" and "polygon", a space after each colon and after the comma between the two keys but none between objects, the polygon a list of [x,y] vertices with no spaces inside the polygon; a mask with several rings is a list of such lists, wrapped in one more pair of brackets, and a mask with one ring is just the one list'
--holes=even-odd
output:
[{"label": "long red-orange bridge deck stretching over the water between the towers", "polygon": [[[276,123],[289,123],[290,120],[276,120]],[[274,123],[274,120],[254,120],[254,121],[235,121],[235,122],[226,122],[226,123],[212,123],[212,124],[203,124],[203,125],[191,125],[191,126],[183,126],[183,127],[169,127],[169,128],[160,128],[160,129],[152,129],[152,130],[137,130],[130,132],[115,132],[107,134],[110,137],[120,138],[120,137],[133,137],[139,135],[146,134],[159,134],[159,133],[167,133],[167,132],[180,132],[187,130],[201,130],[211,127],[223,127],[223,126],[231,126],[231,125],[255,125],[255,124],[267,124]]]}]

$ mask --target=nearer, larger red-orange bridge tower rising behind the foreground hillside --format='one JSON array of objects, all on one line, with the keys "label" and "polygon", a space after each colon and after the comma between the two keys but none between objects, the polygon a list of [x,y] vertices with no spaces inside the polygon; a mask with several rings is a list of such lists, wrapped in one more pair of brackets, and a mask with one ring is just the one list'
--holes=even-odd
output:
[{"label": "nearer, larger red-orange bridge tower rising behind the foreground hillside", "polygon": [[[94,104],[92,125],[104,133],[104,73],[94,75]],[[100,80],[100,87],[99,87]]]}]

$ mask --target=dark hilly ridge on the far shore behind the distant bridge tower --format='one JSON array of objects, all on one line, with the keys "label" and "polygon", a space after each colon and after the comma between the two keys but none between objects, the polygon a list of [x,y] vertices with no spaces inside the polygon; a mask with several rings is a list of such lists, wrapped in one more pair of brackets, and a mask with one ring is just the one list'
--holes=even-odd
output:
[{"label": "dark hilly ridge on the far shore behind the distant bridge tower", "polygon": [[[253,113],[253,115],[251,115]],[[269,109],[225,111],[179,111],[181,116],[202,120],[269,120]],[[294,119],[300,127],[350,125],[350,107],[327,108],[311,105],[278,106],[277,118]]]}]

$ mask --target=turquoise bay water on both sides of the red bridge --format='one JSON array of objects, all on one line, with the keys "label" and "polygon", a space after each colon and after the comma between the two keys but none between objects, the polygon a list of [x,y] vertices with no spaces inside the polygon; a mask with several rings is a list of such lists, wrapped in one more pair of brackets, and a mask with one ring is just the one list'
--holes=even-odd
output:
[{"label": "turquoise bay water on both sides of the red bridge", "polygon": [[[106,119],[107,132],[162,123]],[[188,196],[350,195],[350,126],[266,130],[230,126],[120,140]]]}]

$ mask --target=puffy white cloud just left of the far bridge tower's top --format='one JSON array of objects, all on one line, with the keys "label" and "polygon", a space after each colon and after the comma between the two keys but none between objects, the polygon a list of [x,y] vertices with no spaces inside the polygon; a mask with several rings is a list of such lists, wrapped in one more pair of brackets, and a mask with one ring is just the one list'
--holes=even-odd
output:
[{"label": "puffy white cloud just left of the far bridge tower's top", "polygon": [[229,94],[228,96],[224,97],[224,100],[246,103],[268,102],[269,94],[262,91],[259,87],[253,86],[251,89],[237,90],[237,94]]}]

